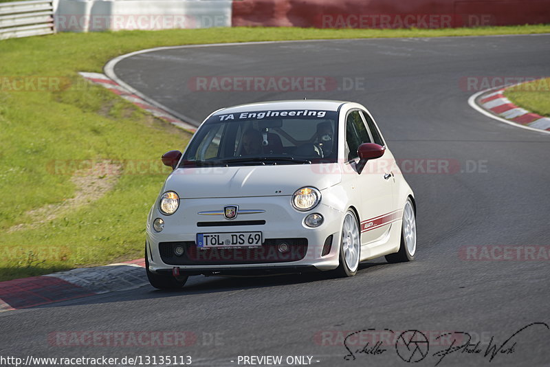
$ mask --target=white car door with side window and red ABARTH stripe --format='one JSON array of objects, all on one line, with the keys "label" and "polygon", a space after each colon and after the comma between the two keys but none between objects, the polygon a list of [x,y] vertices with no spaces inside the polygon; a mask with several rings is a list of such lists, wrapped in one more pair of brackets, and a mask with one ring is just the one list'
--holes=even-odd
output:
[{"label": "white car door with side window and red ABARTH stripe", "polygon": [[[359,109],[348,112],[346,118],[346,147],[344,154],[349,162],[358,162],[358,148],[363,143],[375,142],[375,134],[367,128],[364,113]],[[379,140],[380,142],[380,140]],[[395,182],[391,165],[382,156],[366,163],[358,175],[358,186],[362,201],[360,211],[361,243],[366,245],[386,236],[390,225],[395,221],[393,190]]]}]

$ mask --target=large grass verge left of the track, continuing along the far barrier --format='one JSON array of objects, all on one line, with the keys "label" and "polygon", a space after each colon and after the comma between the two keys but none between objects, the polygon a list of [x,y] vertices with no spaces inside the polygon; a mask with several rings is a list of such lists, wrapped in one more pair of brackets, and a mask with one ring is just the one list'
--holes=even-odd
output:
[{"label": "large grass verge left of the track, continuing along the far barrier", "polygon": [[[316,38],[471,36],[550,32],[550,25],[444,30],[218,28],[122,31],[9,39],[0,42],[0,280],[142,256],[144,222],[169,168],[159,156],[183,149],[184,131],[151,118],[113,93],[87,85],[78,71],[102,71],[115,56],[166,45]],[[61,88],[11,91],[17,76],[47,76]],[[71,175],[52,171],[67,159],[146,159],[157,174],[126,167],[96,201],[36,227],[26,214],[74,197]]]}]

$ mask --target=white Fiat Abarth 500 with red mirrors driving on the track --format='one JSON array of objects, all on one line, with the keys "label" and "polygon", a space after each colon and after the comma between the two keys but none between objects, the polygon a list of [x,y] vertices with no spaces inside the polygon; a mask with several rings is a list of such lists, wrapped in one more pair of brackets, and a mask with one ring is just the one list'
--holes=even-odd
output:
[{"label": "white Fiat Abarth 500 with red mirrors driving on the track", "polygon": [[361,104],[291,100],[220,109],[201,124],[146,224],[153,287],[190,275],[334,271],[409,261],[415,197]]}]

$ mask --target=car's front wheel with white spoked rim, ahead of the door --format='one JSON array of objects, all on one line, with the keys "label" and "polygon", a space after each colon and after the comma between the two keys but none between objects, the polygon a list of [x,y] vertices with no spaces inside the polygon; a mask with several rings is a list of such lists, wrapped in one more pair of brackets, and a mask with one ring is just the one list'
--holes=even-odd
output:
[{"label": "car's front wheel with white spoked rim, ahead of the door", "polygon": [[357,216],[353,210],[348,209],[342,222],[342,235],[340,236],[340,265],[336,268],[336,275],[342,278],[354,276],[359,269],[361,258],[361,232]]}]

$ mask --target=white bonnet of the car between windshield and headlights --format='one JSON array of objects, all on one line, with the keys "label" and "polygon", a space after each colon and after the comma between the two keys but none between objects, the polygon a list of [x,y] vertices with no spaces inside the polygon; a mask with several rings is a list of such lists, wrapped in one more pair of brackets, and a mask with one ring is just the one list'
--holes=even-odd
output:
[{"label": "white bonnet of the car between windshield and headlights", "polygon": [[284,196],[304,186],[323,190],[340,181],[339,164],[177,168],[164,191],[173,190],[181,199]]}]

